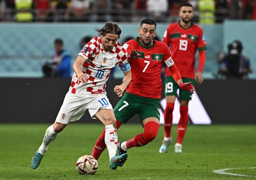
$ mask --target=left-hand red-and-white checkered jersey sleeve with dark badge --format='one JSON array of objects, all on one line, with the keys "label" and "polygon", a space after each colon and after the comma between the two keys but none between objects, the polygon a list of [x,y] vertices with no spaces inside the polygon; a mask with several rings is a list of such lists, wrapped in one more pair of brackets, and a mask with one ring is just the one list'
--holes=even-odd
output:
[{"label": "left-hand red-and-white checkered jersey sleeve with dark badge", "polygon": [[78,53],[78,55],[83,56],[86,60],[96,52],[96,49],[98,48],[99,42],[97,41],[97,37],[94,37],[90,40],[83,49]]}]

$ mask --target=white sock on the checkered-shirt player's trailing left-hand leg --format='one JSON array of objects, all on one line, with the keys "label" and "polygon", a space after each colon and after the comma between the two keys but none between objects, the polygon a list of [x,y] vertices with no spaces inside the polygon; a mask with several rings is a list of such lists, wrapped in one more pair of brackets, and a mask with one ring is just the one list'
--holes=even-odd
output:
[{"label": "white sock on the checkered-shirt player's trailing left-hand leg", "polygon": [[59,135],[59,133],[54,132],[53,130],[53,125],[51,125],[50,127],[48,127],[46,129],[45,132],[45,137],[43,138],[43,143],[41,144],[41,146],[38,149],[38,152],[41,155],[44,155],[45,152],[47,151],[48,145],[57,138],[57,136]]}]

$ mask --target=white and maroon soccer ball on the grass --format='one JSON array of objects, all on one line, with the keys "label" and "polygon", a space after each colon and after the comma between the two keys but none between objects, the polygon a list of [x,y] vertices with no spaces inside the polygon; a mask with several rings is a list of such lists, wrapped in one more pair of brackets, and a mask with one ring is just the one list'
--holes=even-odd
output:
[{"label": "white and maroon soccer ball on the grass", "polygon": [[95,174],[98,169],[98,162],[91,155],[84,155],[77,159],[76,169],[79,174]]}]

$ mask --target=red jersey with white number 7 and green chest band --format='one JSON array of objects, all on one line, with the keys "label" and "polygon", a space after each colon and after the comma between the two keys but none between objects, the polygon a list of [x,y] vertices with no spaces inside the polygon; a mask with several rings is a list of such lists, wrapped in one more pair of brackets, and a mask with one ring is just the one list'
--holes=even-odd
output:
[{"label": "red jersey with white number 7 and green chest band", "polygon": [[145,47],[140,38],[132,39],[123,45],[127,53],[136,50],[140,57],[131,60],[132,80],[126,88],[126,92],[149,98],[161,98],[161,69],[165,62],[171,67],[174,62],[171,52],[165,43],[153,40],[150,47]]}]

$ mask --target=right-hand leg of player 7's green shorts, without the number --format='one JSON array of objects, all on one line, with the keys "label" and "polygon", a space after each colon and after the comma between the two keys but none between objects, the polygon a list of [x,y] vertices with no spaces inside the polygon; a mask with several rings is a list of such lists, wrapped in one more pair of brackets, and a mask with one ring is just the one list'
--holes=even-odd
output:
[{"label": "right-hand leg of player 7's green shorts, without the number", "polygon": [[141,110],[138,113],[140,122],[147,118],[156,118],[160,120],[159,103],[160,99],[152,98],[148,98],[146,103],[143,102],[143,104],[141,104]]}]

